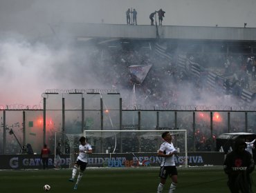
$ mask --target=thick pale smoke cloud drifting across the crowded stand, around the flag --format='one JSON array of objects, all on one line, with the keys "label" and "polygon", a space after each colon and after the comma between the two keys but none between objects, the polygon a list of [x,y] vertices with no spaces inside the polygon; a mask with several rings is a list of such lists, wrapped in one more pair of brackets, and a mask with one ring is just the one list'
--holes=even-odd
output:
[{"label": "thick pale smoke cloud drifting across the crowded stand, around the flag", "polygon": [[[209,92],[203,82],[199,87],[194,81],[182,80],[180,74],[170,77],[166,72],[174,64],[157,61],[160,58],[155,57],[153,50],[140,48],[129,54],[122,47],[109,50],[106,45],[96,44],[66,39],[65,42],[51,39],[32,43],[21,35],[4,36],[0,39],[0,104],[39,105],[41,94],[52,88],[117,88],[127,106],[143,105],[152,109],[165,108],[164,105],[239,105],[235,99],[225,98],[223,92]],[[122,43],[116,41],[116,44]],[[138,46],[129,44],[131,48]],[[173,54],[176,57],[177,53]],[[131,101],[133,85],[129,82],[127,67],[145,62],[153,64],[152,70],[143,84],[136,86],[136,101]],[[212,65],[203,64],[208,68]]]}]

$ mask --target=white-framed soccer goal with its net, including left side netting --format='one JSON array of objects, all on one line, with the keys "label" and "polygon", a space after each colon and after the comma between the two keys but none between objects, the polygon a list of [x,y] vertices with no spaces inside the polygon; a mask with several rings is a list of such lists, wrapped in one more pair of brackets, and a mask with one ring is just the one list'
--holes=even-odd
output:
[{"label": "white-framed soccer goal with its net, including left side netting", "polygon": [[[172,134],[177,154],[177,166],[188,167],[187,130],[84,130],[81,134],[55,132],[55,147],[62,142],[62,150],[69,154],[69,168],[73,168],[79,152],[80,137],[93,149],[87,167],[156,167],[163,157],[157,155],[164,142],[163,132]],[[55,167],[58,166],[55,148]]]}]

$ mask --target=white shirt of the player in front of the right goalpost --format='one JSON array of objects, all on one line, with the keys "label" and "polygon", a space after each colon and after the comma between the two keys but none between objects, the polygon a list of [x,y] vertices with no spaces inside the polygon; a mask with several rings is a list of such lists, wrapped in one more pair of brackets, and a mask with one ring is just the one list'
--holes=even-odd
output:
[{"label": "white shirt of the player in front of the right goalpost", "polygon": [[[170,154],[176,149],[174,148],[173,143],[168,143],[167,141],[163,142],[160,149],[161,152],[165,152],[166,154]],[[169,156],[169,157],[163,157],[163,161],[161,163],[161,166],[170,166],[170,165],[175,165],[174,161],[174,155]]]}]

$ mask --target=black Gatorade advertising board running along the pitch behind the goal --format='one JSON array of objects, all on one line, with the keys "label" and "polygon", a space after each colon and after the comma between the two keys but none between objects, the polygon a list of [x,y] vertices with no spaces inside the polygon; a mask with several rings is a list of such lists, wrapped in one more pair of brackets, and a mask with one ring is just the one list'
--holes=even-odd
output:
[{"label": "black Gatorade advertising board running along the pitch behind the goal", "polygon": [[[184,165],[185,156],[175,157],[177,166]],[[0,170],[43,169],[40,155],[1,155]],[[157,167],[163,157],[156,153],[91,154],[87,167]],[[223,165],[223,152],[188,152],[188,165]],[[61,167],[68,168],[69,154],[61,155]],[[54,168],[54,155],[49,158],[48,168]]]}]

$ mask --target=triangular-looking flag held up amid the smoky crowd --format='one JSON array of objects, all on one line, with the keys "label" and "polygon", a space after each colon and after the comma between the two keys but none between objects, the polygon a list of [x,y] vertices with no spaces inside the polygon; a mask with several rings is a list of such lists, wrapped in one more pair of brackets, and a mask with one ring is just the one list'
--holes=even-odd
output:
[{"label": "triangular-looking flag held up amid the smoky crowd", "polygon": [[147,73],[152,68],[152,65],[130,65],[128,68],[134,80],[141,84],[147,77]]}]

